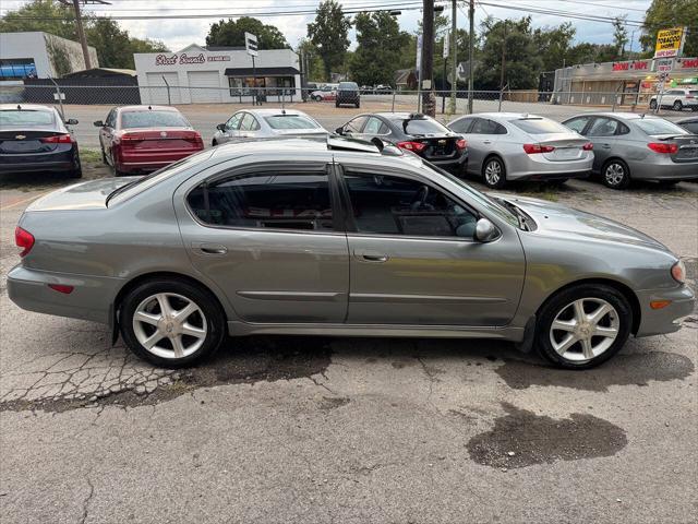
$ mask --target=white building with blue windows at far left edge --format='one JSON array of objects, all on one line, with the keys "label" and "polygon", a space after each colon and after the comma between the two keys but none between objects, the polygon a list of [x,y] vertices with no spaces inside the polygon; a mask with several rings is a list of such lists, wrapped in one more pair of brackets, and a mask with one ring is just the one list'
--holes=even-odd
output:
[{"label": "white building with blue windows at far left edge", "polygon": [[[99,67],[97,51],[88,47],[93,68]],[[85,69],[77,41],[40,31],[0,34],[0,82],[22,83],[24,79],[60,79]]]}]

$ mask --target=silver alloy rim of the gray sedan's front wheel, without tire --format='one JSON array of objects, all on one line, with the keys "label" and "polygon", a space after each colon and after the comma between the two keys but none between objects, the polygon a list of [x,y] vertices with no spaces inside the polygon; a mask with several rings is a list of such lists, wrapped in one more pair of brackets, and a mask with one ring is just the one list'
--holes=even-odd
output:
[{"label": "silver alloy rim of the gray sedan's front wheel, without tire", "polygon": [[555,315],[550,342],[564,359],[585,362],[607,350],[619,330],[621,320],[611,303],[601,298],[580,298]]}]

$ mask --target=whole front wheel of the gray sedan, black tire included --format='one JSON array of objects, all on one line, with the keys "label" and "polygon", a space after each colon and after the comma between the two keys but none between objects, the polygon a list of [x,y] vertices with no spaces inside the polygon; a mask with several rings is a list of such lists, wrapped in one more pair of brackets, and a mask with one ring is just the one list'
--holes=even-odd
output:
[{"label": "whole front wheel of the gray sedan, black tire included", "polygon": [[541,307],[534,343],[539,354],[558,368],[589,369],[618,353],[631,326],[633,308],[621,291],[580,284],[553,295]]}]

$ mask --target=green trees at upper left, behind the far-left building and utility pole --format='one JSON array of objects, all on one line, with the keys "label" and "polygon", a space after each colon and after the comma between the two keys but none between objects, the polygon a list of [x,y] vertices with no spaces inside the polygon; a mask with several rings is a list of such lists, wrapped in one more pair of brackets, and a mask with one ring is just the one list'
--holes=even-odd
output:
[{"label": "green trees at upper left, behind the far-left building and utility pole", "polygon": [[[25,16],[36,16],[43,20],[24,20]],[[60,20],[46,20],[46,19]],[[140,39],[121,29],[111,19],[85,14],[83,16],[87,44],[93,46],[103,68],[133,69],[134,52],[165,51],[165,44],[157,40]],[[61,36],[70,40],[77,40],[75,15],[72,7],[55,0],[34,0],[16,11],[7,13],[0,20],[0,33],[43,31],[51,35]],[[51,52],[49,50],[49,52]],[[55,51],[58,52],[58,51]],[[56,70],[60,74],[70,72],[68,57],[59,57],[55,61]],[[58,64],[62,63],[61,67]],[[65,69],[64,71],[61,69]]]}]

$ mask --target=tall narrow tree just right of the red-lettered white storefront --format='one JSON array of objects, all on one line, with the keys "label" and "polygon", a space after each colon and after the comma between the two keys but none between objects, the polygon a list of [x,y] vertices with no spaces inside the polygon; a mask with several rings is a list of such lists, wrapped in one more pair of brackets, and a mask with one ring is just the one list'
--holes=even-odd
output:
[{"label": "tall narrow tree just right of the red-lettered white storefront", "polygon": [[329,79],[332,69],[344,63],[349,49],[351,20],[344,15],[341,5],[335,0],[325,0],[315,11],[315,22],[308,24],[308,37],[317,48]]}]

